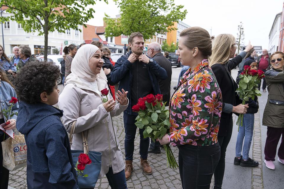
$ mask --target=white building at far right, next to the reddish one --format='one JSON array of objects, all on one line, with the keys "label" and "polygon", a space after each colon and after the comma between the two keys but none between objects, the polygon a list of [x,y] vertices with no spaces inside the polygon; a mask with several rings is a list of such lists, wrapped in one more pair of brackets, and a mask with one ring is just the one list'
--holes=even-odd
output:
[{"label": "white building at far right, next to the reddish one", "polygon": [[267,50],[271,54],[278,50],[281,16],[282,12],[276,14],[269,33],[269,44]]}]

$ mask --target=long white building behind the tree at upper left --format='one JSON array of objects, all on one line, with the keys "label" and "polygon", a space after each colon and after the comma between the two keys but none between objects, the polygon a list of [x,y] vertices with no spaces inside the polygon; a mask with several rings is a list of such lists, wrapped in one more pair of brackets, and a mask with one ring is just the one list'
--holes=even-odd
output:
[{"label": "long white building behind the tree at upper left", "polygon": [[[4,11],[2,13],[3,17],[11,15]],[[0,24],[1,28],[1,24]],[[54,54],[53,49],[58,50],[61,47],[68,46],[70,44],[80,45],[83,43],[83,26],[78,26],[79,30],[66,30],[65,33],[60,33],[58,31],[49,32],[48,35],[48,54]],[[4,49],[6,54],[12,53],[14,46],[29,45],[32,54],[43,54],[44,51],[44,35],[39,36],[38,32],[27,33],[22,29],[21,24],[16,21],[9,21],[3,23],[4,32]],[[2,28],[0,30],[0,44],[3,46],[2,40]]]}]

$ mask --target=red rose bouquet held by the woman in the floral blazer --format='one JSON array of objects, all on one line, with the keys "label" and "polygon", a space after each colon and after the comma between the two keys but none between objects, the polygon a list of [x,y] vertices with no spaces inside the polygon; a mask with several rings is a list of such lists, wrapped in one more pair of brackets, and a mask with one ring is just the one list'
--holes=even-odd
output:
[{"label": "red rose bouquet held by the woman in the floral blazer", "polygon": [[[153,141],[162,139],[170,128],[169,110],[166,110],[163,103],[162,94],[148,94],[146,97],[139,98],[136,105],[132,107],[133,112],[138,112],[135,125],[144,128],[144,138],[150,137]],[[164,145],[167,154],[167,166],[176,169],[178,164],[172,153],[169,144]]]}]

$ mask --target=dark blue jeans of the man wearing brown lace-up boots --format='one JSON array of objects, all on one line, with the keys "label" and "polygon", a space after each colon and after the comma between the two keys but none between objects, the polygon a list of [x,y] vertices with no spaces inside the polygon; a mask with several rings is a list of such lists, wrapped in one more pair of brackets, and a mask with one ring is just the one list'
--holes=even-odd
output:
[{"label": "dark blue jeans of the man wearing brown lace-up boots", "polygon": [[[134,124],[136,122],[136,115],[129,115],[127,113],[123,114],[124,128],[125,128],[125,139],[124,139],[124,148],[125,148],[125,159],[133,160],[134,152],[134,139],[136,136],[137,126]],[[139,154],[142,159],[147,159],[148,157],[148,148],[149,148],[149,137],[144,139],[143,137],[144,129],[139,129],[140,133],[140,150]]]}]

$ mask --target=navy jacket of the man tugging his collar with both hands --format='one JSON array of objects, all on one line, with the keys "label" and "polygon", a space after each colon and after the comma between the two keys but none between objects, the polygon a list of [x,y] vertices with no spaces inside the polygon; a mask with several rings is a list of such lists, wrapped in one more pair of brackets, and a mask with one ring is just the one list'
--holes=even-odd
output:
[{"label": "navy jacket of the man tugging his collar with both hands", "polygon": [[[131,86],[132,86],[132,63],[128,61],[128,57],[132,51],[130,50],[127,54],[121,56],[117,62],[114,65],[114,69],[111,73],[111,80],[113,83],[119,83],[118,89],[121,91],[121,89],[124,89],[125,91],[128,91],[127,97],[129,99],[129,104],[131,104]],[[150,57],[149,57],[150,58]],[[138,60],[137,60],[138,62]],[[139,62],[138,62],[139,63]],[[154,60],[154,62],[149,62],[146,64],[147,70],[149,73],[149,77],[152,83],[152,88],[154,91],[154,94],[160,94],[159,89],[159,79],[167,79],[167,72],[165,69],[163,69],[159,64]],[[125,113],[130,115],[136,115],[132,112],[131,105],[127,107],[125,110]]]}]

